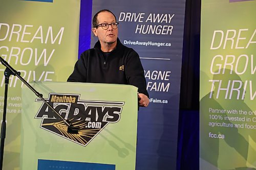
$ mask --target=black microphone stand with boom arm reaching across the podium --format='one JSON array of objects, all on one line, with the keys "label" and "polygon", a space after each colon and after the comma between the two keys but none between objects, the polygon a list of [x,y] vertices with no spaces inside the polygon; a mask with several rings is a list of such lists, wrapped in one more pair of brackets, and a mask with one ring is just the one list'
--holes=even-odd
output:
[{"label": "black microphone stand with boom arm reaching across the podium", "polygon": [[8,93],[8,85],[9,85],[9,77],[11,75],[17,76],[26,86],[32,90],[35,95],[40,98],[48,107],[50,107],[53,112],[58,115],[63,122],[68,126],[68,133],[71,134],[78,134],[79,127],[74,127],[68,119],[63,118],[44,98],[42,98],[42,94],[37,92],[26,80],[24,80],[20,76],[20,72],[13,69],[1,56],[0,56],[1,63],[6,66],[4,75],[5,75],[5,98],[4,98],[4,112],[3,112],[3,120],[1,126],[1,145],[0,145],[0,170],[3,169],[3,160],[4,160],[4,147],[5,147],[5,137],[6,137],[6,108],[7,108],[7,93]]}]

